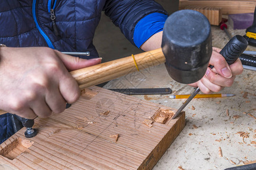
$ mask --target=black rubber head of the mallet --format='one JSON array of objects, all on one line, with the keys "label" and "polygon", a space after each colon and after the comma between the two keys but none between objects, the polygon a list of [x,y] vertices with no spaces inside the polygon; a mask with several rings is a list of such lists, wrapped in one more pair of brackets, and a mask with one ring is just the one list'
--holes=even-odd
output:
[{"label": "black rubber head of the mallet", "polygon": [[212,54],[208,19],[200,12],[180,10],[164,24],[162,50],[170,76],[180,83],[194,83],[207,70]]}]

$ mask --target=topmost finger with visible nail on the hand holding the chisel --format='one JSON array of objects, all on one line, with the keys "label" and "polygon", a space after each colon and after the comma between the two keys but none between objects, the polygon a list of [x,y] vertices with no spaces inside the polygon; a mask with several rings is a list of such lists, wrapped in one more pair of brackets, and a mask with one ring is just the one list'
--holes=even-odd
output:
[{"label": "topmost finger with visible nail on the hand holding the chisel", "polygon": [[217,73],[224,76],[225,78],[232,77],[232,71],[230,70],[228,63],[226,62],[226,59],[220,53],[213,51],[212,57],[210,57],[209,64],[214,66]]}]

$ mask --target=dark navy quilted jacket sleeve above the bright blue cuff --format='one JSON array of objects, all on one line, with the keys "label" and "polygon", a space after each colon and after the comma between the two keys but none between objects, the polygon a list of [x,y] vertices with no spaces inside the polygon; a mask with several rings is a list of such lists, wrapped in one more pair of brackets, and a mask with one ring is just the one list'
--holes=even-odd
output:
[{"label": "dark navy quilted jacket sleeve above the bright blue cuff", "polygon": [[139,20],[155,12],[168,15],[154,0],[106,0],[103,10],[133,45],[134,29]]}]

